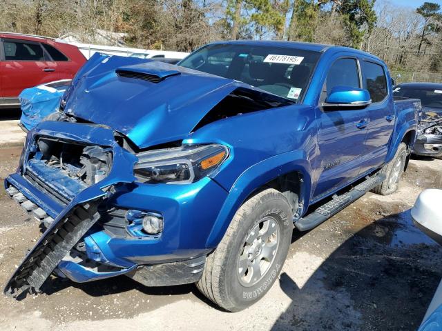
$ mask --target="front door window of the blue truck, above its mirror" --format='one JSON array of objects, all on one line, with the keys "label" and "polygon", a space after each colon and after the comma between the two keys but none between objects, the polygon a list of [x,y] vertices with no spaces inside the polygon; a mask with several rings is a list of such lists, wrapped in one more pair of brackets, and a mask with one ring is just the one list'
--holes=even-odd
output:
[{"label": "front door window of the blue truck, above its mirror", "polygon": [[327,92],[335,86],[359,88],[359,73],[356,59],[338,59],[327,74]]}]

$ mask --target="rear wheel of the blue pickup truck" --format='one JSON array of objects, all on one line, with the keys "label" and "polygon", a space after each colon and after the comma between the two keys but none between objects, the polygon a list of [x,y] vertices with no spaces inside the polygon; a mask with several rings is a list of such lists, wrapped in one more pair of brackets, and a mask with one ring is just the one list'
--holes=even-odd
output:
[{"label": "rear wheel of the blue pickup truck", "polygon": [[[407,145],[405,145],[405,143],[401,143],[398,146],[398,150],[396,150],[396,154],[394,154],[393,159],[389,163],[384,165],[381,170],[379,170],[380,174],[385,174],[385,180],[375,186],[372,189],[372,192],[381,195],[387,195],[396,192],[396,190],[398,189],[398,183],[401,180],[401,176],[403,174],[406,159]],[[397,170],[398,174],[396,174]]]}]

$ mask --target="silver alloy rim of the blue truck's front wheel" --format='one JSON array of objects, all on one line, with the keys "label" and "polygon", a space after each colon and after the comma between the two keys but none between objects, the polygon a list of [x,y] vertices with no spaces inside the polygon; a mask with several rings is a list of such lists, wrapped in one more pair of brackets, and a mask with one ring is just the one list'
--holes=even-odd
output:
[{"label": "silver alloy rim of the blue truck's front wheel", "polygon": [[244,239],[238,257],[238,279],[246,287],[258,283],[270,269],[280,241],[280,227],[273,217],[260,219]]}]

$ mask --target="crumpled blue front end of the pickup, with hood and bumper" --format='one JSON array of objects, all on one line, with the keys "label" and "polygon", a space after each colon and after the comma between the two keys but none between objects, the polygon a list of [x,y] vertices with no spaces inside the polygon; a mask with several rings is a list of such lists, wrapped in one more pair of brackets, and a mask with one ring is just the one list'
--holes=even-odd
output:
[{"label": "crumpled blue front end of the pickup, with hood and bumper", "polygon": [[5,181],[46,229],[6,294],[37,292],[52,273],[76,282],[125,274],[148,286],[198,281],[229,194],[215,176],[234,151],[197,131],[293,103],[166,63],[94,55],[61,111],[28,133]]}]

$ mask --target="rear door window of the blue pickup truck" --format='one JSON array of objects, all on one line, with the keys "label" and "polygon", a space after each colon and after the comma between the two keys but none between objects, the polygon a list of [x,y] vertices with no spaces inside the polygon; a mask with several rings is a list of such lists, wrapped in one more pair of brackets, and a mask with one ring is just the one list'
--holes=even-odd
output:
[{"label": "rear door window of the blue pickup truck", "polygon": [[363,61],[363,88],[370,92],[372,102],[383,101],[387,97],[387,79],[382,66],[373,62]]}]

